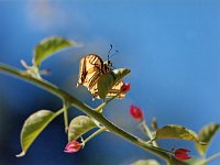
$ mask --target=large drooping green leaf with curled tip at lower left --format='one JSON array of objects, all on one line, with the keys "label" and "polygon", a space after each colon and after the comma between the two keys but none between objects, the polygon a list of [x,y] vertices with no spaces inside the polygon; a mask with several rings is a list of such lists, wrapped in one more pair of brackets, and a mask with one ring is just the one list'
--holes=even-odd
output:
[{"label": "large drooping green leaf with curled tip at lower left", "polygon": [[22,153],[16,155],[16,157],[25,155],[34,140],[55,117],[55,113],[52,111],[40,110],[25,120],[21,131]]}]

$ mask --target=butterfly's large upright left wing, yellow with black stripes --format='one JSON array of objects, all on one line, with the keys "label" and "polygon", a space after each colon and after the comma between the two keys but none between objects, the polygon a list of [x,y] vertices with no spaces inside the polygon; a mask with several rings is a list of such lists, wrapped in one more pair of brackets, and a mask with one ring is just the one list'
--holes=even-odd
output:
[{"label": "butterfly's large upright left wing, yellow with black stripes", "polygon": [[89,54],[81,58],[79,65],[78,85],[82,85],[91,90],[97,84],[99,77],[103,74],[103,62],[96,54]]}]

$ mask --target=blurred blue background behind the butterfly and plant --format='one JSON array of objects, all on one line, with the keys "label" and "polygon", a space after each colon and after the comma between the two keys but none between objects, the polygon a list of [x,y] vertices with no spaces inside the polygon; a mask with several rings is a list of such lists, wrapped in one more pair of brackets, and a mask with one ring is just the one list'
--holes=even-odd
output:
[{"label": "blurred blue background behind the butterfly and plant", "polygon": [[[31,64],[34,46],[44,37],[61,35],[81,47],[57,53],[43,62],[52,74],[45,79],[97,107],[84,87],[76,88],[80,57],[88,53],[103,61],[110,44],[119,51],[111,61],[128,67],[124,81],[132,88],[123,100],[114,100],[106,117],[124,130],[146,139],[128,113],[134,103],[150,123],[180,124],[196,132],[220,120],[220,1],[0,1],[0,62],[23,69]],[[26,155],[21,152],[20,131],[24,120],[41,109],[56,111],[55,96],[16,78],[0,74],[0,164],[1,165],[127,165],[140,158],[157,158],[110,133],[92,139],[75,154],[63,152],[67,136],[63,117],[54,120],[36,139]],[[69,110],[69,117],[81,114]],[[208,155],[219,152],[218,134]],[[160,141],[163,147],[185,147],[198,156],[191,142]],[[158,160],[158,158],[157,158]],[[162,160],[158,160],[164,164]],[[210,165],[220,164],[220,158]]]}]

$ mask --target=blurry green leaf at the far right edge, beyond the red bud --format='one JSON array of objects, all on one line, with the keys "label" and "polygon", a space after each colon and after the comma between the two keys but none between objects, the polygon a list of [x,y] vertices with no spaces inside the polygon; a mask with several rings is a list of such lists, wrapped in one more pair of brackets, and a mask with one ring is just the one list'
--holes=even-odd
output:
[{"label": "blurry green leaf at the far right edge, beyond the red bud", "polygon": [[195,145],[201,156],[206,155],[211,139],[219,130],[220,130],[220,124],[217,123],[210,123],[200,130],[199,140],[201,142],[205,142],[207,145],[201,145],[201,144],[195,144]]}]

